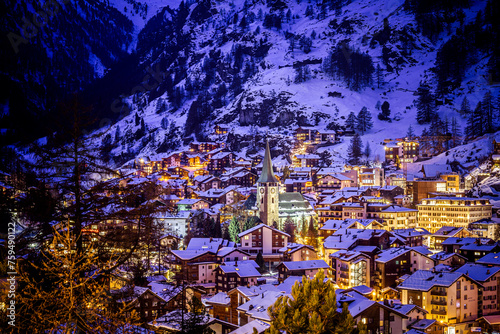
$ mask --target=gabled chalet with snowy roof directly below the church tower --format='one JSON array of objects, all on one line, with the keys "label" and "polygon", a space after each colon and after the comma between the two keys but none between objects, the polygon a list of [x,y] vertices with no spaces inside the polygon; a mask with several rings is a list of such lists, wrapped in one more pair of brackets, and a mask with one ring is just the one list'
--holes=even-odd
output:
[{"label": "gabled chalet with snowy roof directly below the church tower", "polygon": [[279,249],[288,245],[288,235],[265,224],[259,224],[238,234],[241,239],[240,249],[256,257],[260,252],[270,268],[280,261]]}]

